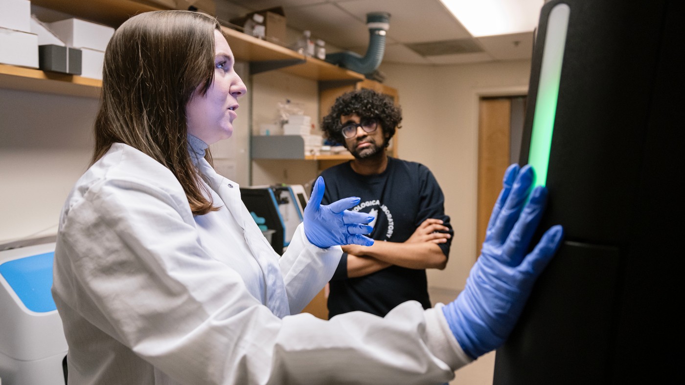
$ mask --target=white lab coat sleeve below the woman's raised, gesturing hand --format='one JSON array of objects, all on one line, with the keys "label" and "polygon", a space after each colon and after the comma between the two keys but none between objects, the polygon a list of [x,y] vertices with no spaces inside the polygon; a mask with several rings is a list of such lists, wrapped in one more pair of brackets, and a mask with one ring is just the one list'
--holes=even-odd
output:
[{"label": "white lab coat sleeve below the woman's raised, gesturing hand", "polygon": [[297,314],[328,282],[338,266],[340,246],[322,249],[308,241],[303,224],[297,226],[288,250],[279,260],[288,293],[290,314]]}]

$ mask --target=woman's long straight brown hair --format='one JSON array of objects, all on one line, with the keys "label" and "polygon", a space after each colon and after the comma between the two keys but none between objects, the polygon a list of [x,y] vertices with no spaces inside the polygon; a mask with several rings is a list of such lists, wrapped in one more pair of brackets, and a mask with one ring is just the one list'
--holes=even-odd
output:
[{"label": "woman's long straight brown hair", "polygon": [[[215,18],[188,11],[145,12],[121,25],[105,51],[92,163],[123,143],[165,165],[194,215],[215,211],[188,152],[186,104],[214,81]],[[209,149],[206,159],[211,162]],[[211,199],[211,198],[210,198]]]}]

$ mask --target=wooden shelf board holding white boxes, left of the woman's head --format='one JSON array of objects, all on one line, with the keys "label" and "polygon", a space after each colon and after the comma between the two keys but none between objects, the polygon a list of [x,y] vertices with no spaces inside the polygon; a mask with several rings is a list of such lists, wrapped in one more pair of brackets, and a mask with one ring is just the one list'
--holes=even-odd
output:
[{"label": "wooden shelf board holding white boxes, left of the woman's head", "polygon": [[99,98],[97,79],[0,64],[0,88]]}]

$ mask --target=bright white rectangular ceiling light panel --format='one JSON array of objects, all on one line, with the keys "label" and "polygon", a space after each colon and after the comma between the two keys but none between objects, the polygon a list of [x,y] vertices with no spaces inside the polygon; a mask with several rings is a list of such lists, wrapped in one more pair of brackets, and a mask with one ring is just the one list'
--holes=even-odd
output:
[{"label": "bright white rectangular ceiling light panel", "polygon": [[475,38],[531,32],[544,0],[440,0]]}]

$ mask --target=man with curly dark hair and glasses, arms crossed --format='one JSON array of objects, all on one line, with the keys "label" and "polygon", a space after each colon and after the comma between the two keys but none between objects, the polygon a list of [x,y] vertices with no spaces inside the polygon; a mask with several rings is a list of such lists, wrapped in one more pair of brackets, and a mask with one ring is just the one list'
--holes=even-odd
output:
[{"label": "man with curly dark hair and glasses, arms crossed", "polygon": [[372,246],[343,246],[328,297],[329,318],[353,310],[384,317],[408,300],[430,308],[425,269],[444,269],[453,230],[443,191],[425,165],[388,156],[402,120],[393,100],[373,90],[336,99],[321,129],[354,159],[321,173],[324,203],[358,196],[353,211],[369,213]]}]

